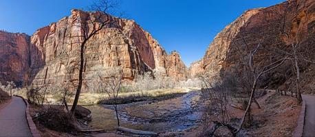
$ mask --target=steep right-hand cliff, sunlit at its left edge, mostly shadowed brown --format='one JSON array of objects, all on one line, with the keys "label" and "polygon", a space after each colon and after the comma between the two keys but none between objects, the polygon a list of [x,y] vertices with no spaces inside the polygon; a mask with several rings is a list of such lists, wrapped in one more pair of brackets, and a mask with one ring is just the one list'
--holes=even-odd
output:
[{"label": "steep right-hand cliff, sunlit at its left edge, mostly shadowed brown", "polygon": [[[284,36],[284,29],[289,37]],[[301,47],[305,48],[303,50],[309,51],[305,56],[314,60],[314,31],[315,1],[313,0],[292,0],[268,8],[248,10],[217,34],[202,58],[202,71],[221,75],[221,77],[229,72],[241,73],[243,64],[241,64],[242,57],[239,56],[239,51],[244,51],[246,48],[253,49],[259,42],[265,48],[276,46],[288,50],[291,43],[298,39]],[[261,56],[267,54],[268,52],[263,51],[260,53]],[[263,66],[273,61],[273,58],[268,58],[256,63]],[[294,86],[293,81],[287,81],[287,79],[292,79],[290,77],[294,77],[291,65],[291,62],[287,62],[278,70],[265,75],[261,86],[281,84],[286,85],[287,88],[290,88],[290,85]],[[308,73],[314,71],[314,66],[301,63],[301,68],[303,68],[303,74],[311,77],[305,79],[304,88],[307,88],[314,82],[312,78],[315,77],[314,73]]]}]

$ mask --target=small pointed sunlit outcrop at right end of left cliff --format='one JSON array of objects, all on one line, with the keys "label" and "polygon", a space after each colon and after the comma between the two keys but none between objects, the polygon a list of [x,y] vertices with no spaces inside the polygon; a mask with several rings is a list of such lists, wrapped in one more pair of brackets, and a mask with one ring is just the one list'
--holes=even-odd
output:
[{"label": "small pointed sunlit outcrop at right end of left cliff", "polygon": [[187,69],[180,58],[177,51],[172,51],[166,58],[166,75],[175,77],[177,80],[184,80],[187,78]]}]

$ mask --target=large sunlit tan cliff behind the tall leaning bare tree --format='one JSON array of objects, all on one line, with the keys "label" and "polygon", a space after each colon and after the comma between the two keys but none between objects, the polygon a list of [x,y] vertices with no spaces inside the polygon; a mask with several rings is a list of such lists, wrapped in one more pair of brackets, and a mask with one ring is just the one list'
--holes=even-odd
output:
[{"label": "large sunlit tan cliff behind the tall leaning bare tree", "polygon": [[[65,17],[57,23],[39,29],[31,38],[31,45],[39,49],[39,54],[34,55],[32,66],[41,66],[38,73],[33,74],[33,84],[54,84],[66,75],[71,75],[72,80],[77,81],[79,36],[83,33],[80,27],[88,23],[95,13],[72,10],[72,15]],[[80,18],[80,23],[74,27],[69,26]],[[162,66],[169,70],[171,77],[183,77],[182,71],[173,71],[171,66],[166,67],[167,54],[151,34],[145,32],[134,21],[114,18],[116,24],[106,26],[96,36],[87,42],[85,49],[85,64],[83,77],[84,84],[93,80],[92,75],[100,67],[121,66],[124,79],[133,80],[135,75],[142,75],[146,71],[152,71],[156,66]],[[67,29],[65,29],[67,28]],[[36,60],[37,59],[37,60]],[[39,60],[39,61],[38,61]],[[180,58],[177,62],[182,62]],[[176,65],[175,65],[176,66]],[[174,67],[175,67],[174,66]],[[182,67],[182,66],[180,66]]]}]

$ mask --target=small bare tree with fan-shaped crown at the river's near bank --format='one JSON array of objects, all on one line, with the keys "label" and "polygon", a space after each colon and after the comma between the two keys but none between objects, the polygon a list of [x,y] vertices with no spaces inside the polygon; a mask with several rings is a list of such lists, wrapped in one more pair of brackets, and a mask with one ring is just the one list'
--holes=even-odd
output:
[{"label": "small bare tree with fan-shaped crown at the river's near bank", "polygon": [[108,68],[100,71],[98,77],[100,78],[104,92],[106,92],[109,99],[113,101],[112,105],[116,112],[117,125],[120,127],[117,105],[123,78],[122,69],[120,67]]}]

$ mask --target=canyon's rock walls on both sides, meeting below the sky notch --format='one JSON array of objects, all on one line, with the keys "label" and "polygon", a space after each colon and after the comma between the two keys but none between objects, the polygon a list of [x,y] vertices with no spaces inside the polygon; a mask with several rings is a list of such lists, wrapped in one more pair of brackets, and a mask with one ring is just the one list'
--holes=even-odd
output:
[{"label": "canyon's rock walls on both sides, meeting below the sky notch", "polygon": [[[113,66],[121,66],[124,79],[129,81],[154,69],[162,69],[164,76],[177,80],[203,73],[220,77],[228,73],[237,75],[243,67],[238,51],[252,49],[262,39],[265,47],[282,47],[285,50],[289,50],[294,40],[298,39],[298,43],[308,51],[305,53],[307,58],[314,59],[314,5],[312,0],[290,0],[244,12],[217,34],[204,57],[193,62],[189,68],[182,62],[179,53],[166,53],[158,41],[135,21],[111,17],[116,23],[106,26],[87,42],[83,83],[93,79],[100,67]],[[19,86],[30,83],[43,85],[56,84],[60,79],[66,81],[67,77],[72,77],[71,81],[75,83],[78,74],[76,42],[80,42],[80,38],[69,36],[78,35],[82,30],[70,24],[76,21],[74,18],[87,23],[93,14],[72,10],[70,16],[38,29],[32,36],[0,32],[1,82],[12,80]],[[286,30],[288,36],[283,34]],[[257,64],[272,61],[270,58]],[[268,73],[261,86],[293,88],[294,72],[290,70],[290,65],[285,63],[280,69]],[[301,63],[301,69],[301,75],[307,77],[302,82],[302,88],[314,90],[314,65]]]}]

